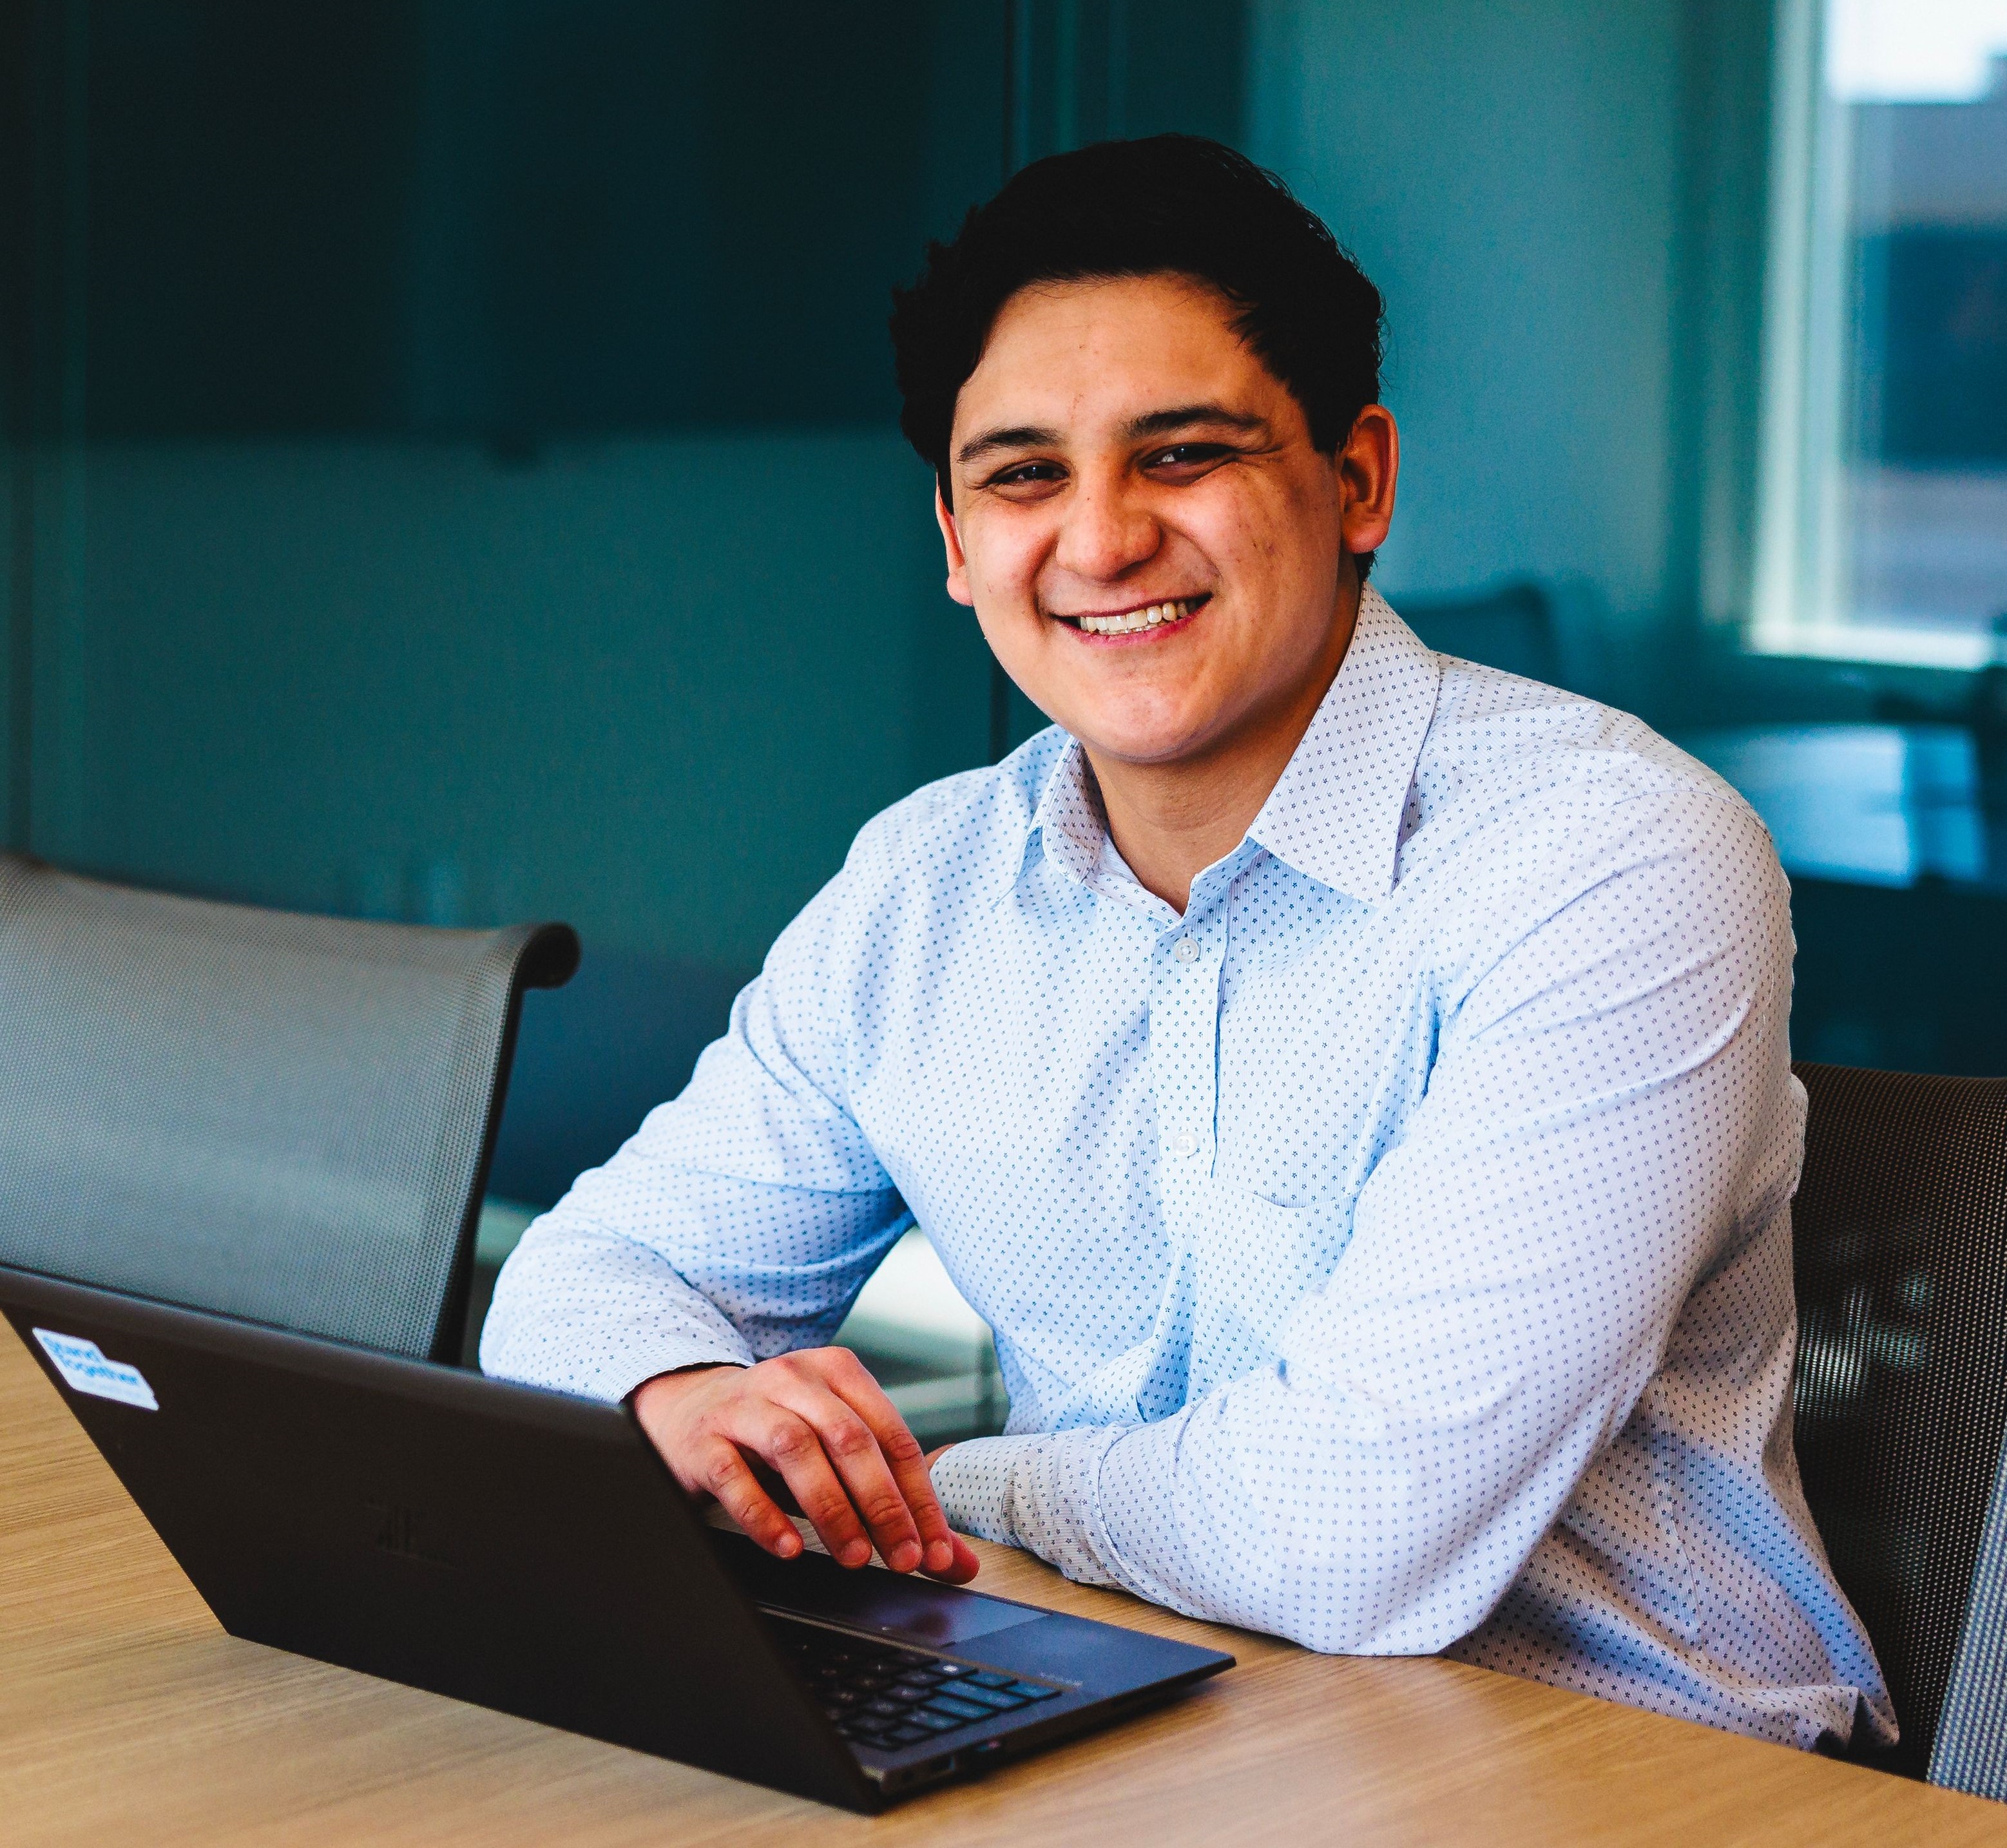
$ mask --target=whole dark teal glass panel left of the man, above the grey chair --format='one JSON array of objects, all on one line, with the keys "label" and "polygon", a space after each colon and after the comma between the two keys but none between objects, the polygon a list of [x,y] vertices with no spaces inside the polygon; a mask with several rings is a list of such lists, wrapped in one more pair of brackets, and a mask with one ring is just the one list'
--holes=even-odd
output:
[{"label": "whole dark teal glass panel left of the man, above the grey chair", "polygon": [[16,16],[20,845],[725,979],[989,754],[885,313],[999,14]]}]

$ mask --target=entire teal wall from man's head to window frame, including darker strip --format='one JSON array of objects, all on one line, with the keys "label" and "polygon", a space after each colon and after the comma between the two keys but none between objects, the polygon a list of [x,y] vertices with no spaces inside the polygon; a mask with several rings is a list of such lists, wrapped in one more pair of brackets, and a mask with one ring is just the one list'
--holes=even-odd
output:
[{"label": "entire teal wall from man's head to window frame, including darker strip", "polygon": [[1250,150],[1387,295],[1403,464],[1383,586],[1399,602],[1539,578],[1567,676],[1648,710],[1668,670],[1706,672],[1696,574],[1722,536],[1698,532],[1704,476],[1736,470],[1752,431],[1766,14],[1252,14]]}]

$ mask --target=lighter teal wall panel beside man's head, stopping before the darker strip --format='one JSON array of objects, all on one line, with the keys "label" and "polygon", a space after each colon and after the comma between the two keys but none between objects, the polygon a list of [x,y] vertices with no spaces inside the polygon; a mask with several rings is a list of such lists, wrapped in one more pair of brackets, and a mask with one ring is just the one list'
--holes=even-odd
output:
[{"label": "lighter teal wall panel beside man's head, stopping before the darker strip", "polygon": [[1672,0],[1291,6],[1262,24],[1256,152],[1387,295],[1385,391],[1405,437],[1389,584],[1535,572],[1654,606]]}]

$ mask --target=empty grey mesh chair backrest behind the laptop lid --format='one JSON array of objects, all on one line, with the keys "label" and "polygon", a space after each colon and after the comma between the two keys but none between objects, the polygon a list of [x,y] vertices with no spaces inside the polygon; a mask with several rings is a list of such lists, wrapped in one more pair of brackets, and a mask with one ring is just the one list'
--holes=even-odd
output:
[{"label": "empty grey mesh chair backrest behind the laptop lid", "polygon": [[460,1352],[526,985],[568,925],[440,931],[0,855],[0,1260]]}]

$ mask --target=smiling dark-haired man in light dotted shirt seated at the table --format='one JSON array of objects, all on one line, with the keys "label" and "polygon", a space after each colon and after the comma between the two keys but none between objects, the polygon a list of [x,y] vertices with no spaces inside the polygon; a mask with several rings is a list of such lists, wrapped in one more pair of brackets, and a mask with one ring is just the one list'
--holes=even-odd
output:
[{"label": "smiling dark-haired man in light dotted shirt seated at the table", "polygon": [[[1790,919],[1638,720],[1367,586],[1379,295],[1270,177],[1044,161],[899,297],[947,588],[1056,724],[877,817],[510,1258],[492,1372],[771,1551],[951,1525],[1315,1649],[1893,1734],[1790,1441]],[[825,1346],[927,1228],[1004,1437]]]}]

